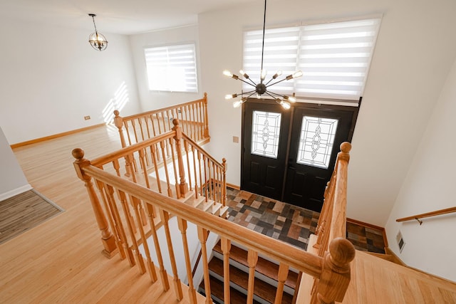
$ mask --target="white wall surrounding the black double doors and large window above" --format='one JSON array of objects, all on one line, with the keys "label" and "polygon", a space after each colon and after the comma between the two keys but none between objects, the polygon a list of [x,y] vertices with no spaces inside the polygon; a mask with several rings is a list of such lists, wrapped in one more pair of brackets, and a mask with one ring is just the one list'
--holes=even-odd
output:
[{"label": "white wall surrounding the black double doors and large window above", "polygon": [[[242,32],[261,28],[263,1],[199,15],[202,90],[209,96],[209,151],[227,158],[227,181],[240,183],[241,110],[224,95],[241,83],[222,75],[242,68]],[[353,136],[348,216],[384,226],[456,54],[456,2],[269,1],[266,25],[383,14]],[[305,73],[305,70],[304,70]]]}]

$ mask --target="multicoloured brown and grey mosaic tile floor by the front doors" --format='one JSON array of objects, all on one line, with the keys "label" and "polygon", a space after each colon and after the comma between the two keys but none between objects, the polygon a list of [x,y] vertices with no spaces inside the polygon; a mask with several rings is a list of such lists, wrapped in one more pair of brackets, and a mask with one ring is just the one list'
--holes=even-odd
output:
[{"label": "multicoloured brown and grey mosaic tile floor by the front doors", "polygon": [[[229,221],[304,249],[320,216],[318,212],[232,188],[227,188],[227,205]],[[347,234],[356,249],[385,253],[382,231],[347,223]]]}]

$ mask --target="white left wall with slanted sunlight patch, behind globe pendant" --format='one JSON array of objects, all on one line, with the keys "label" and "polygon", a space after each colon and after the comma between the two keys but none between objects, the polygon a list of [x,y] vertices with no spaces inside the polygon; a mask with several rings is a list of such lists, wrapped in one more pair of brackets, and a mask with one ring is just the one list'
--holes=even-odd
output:
[{"label": "white left wall with slanted sunlight patch, behind globe pendant", "polygon": [[128,37],[103,33],[109,44],[99,52],[89,34],[0,20],[0,125],[11,144],[102,123],[123,84],[123,114],[139,111]]}]

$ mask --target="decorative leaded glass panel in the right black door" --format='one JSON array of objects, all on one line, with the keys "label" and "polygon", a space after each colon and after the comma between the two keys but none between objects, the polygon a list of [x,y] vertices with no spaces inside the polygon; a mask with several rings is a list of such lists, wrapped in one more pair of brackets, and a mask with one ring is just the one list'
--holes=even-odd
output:
[{"label": "decorative leaded glass panel in the right black door", "polygon": [[332,118],[303,116],[296,162],[328,169],[337,123]]}]

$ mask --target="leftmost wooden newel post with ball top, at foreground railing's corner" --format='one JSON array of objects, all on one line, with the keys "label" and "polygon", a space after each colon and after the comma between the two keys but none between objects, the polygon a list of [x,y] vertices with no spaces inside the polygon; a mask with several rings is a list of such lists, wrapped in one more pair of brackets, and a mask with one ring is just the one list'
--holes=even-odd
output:
[{"label": "leftmost wooden newel post with ball top, at foreground railing's corner", "polygon": [[117,253],[117,246],[115,246],[115,239],[113,234],[111,233],[108,221],[106,220],[106,216],[103,212],[103,208],[100,204],[100,200],[98,199],[97,194],[95,193],[95,189],[93,188],[92,177],[89,177],[85,174],[82,170],[83,167],[90,165],[90,161],[84,158],[84,151],[82,149],[74,149],[71,154],[76,159],[74,164],[74,169],[76,170],[76,174],[78,177],[84,182],[86,186],[88,196],[90,198],[90,203],[92,204],[93,213],[95,214],[95,219],[98,224],[98,229],[101,232],[101,242],[103,243],[103,253],[106,257],[112,258],[115,253]]}]

